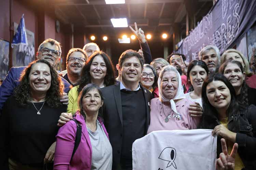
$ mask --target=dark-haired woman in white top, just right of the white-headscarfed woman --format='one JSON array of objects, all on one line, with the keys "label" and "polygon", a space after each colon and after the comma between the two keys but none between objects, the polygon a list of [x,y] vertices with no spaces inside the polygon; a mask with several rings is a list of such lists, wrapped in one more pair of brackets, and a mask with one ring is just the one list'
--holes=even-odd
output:
[{"label": "dark-haired woman in white top, just right of the white-headscarfed woman", "polygon": [[202,85],[209,74],[207,65],[201,60],[193,60],[187,68],[187,84],[190,86],[186,98],[200,104],[202,107]]}]

